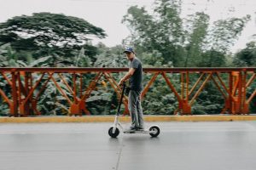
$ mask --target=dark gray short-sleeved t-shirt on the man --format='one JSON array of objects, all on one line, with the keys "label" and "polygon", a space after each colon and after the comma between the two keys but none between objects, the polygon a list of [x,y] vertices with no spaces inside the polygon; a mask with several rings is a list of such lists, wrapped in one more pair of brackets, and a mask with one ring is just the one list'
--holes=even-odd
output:
[{"label": "dark gray short-sleeved t-shirt on the man", "polygon": [[140,61],[140,59],[137,59],[137,57],[134,57],[130,63],[129,68],[136,69],[129,80],[131,90],[142,91],[143,90],[143,65],[142,65],[142,62]]}]

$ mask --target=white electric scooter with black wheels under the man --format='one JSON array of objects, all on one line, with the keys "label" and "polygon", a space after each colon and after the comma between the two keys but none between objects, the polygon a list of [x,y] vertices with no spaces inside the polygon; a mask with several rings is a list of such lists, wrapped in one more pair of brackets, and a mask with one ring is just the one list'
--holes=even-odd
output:
[{"label": "white electric scooter with black wheels under the man", "polygon": [[160,127],[158,127],[157,125],[149,127],[148,130],[124,131],[124,128],[119,122],[120,108],[121,108],[122,100],[124,98],[124,94],[125,94],[125,83],[123,83],[122,94],[119,100],[118,111],[115,115],[113,126],[108,129],[109,136],[111,136],[112,138],[116,138],[119,135],[119,132],[121,130],[123,133],[149,133],[151,137],[153,138],[157,137],[160,134]]}]

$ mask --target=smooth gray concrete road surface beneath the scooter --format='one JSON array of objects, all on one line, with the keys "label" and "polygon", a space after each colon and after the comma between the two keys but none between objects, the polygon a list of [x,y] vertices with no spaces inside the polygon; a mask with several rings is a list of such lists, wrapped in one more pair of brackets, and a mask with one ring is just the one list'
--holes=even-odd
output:
[{"label": "smooth gray concrete road surface beneath the scooter", "polygon": [[153,124],[158,138],[111,139],[106,122],[0,123],[0,170],[256,169],[256,122]]}]

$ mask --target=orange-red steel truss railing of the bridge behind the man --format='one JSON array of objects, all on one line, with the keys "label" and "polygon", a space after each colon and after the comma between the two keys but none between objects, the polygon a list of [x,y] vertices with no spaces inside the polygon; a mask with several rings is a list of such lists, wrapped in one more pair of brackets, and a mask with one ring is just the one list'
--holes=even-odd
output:
[{"label": "orange-red steel truss railing of the bridge behind the man", "polygon": [[[121,94],[121,89],[117,83],[119,80],[115,80],[112,73],[126,71],[128,71],[127,68],[0,68],[0,80],[7,83],[10,88],[9,94],[0,88],[0,95],[3,97],[3,101],[9,105],[9,116],[30,116],[32,113],[40,116],[41,113],[37,109],[38,99],[51,81],[54,82],[61,95],[67,99],[70,116],[82,116],[82,112],[90,115],[90,111],[86,108],[86,99],[90,98],[90,94],[96,89],[97,83],[101,79],[108,81],[119,98]],[[147,94],[153,82],[161,77],[171,89],[170,93],[174,93],[177,98],[179,105],[175,114],[179,112],[182,115],[190,115],[191,106],[209,81],[215,84],[224,97],[225,103],[221,114],[248,114],[249,104],[256,96],[256,89],[253,89],[253,94],[249,96],[247,94],[247,88],[256,82],[256,67],[144,68],[143,71],[153,76],[144,86],[142,98]],[[36,82],[33,81],[34,74],[39,76]],[[63,74],[72,75],[73,82],[68,83]],[[83,75],[85,74],[96,75],[90,80],[87,87],[83,84]],[[170,78],[172,74],[179,75],[179,88],[173,84],[172,78]],[[194,78],[194,81],[191,81],[189,77],[193,74],[197,77],[196,80]],[[63,84],[73,95],[73,98],[68,97],[65,93]],[[129,114],[126,96],[123,103],[125,105],[124,114]]]}]

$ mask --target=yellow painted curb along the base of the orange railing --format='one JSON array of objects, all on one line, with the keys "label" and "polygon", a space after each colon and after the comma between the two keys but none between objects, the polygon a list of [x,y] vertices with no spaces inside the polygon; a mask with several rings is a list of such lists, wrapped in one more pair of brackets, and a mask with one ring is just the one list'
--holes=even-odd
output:
[{"label": "yellow painted curb along the base of the orange railing", "polygon": [[[0,117],[0,123],[43,123],[43,122],[113,122],[114,116],[39,116]],[[120,122],[131,122],[130,116],[119,116]],[[256,121],[256,115],[242,116],[144,116],[145,122],[232,122]]]}]

